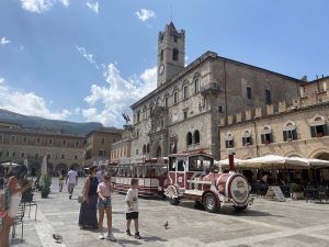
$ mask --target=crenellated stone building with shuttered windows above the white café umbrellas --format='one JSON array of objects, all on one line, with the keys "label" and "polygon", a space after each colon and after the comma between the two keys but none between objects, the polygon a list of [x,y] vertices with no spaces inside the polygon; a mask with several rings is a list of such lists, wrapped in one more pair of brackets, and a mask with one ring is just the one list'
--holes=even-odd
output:
[{"label": "crenellated stone building with shuttered windows above the white caf\u00e9 umbrellas", "polygon": [[234,147],[240,159],[275,154],[329,160],[328,86],[329,77],[324,77],[303,83],[293,103],[232,114],[228,124],[220,119],[220,158]]}]

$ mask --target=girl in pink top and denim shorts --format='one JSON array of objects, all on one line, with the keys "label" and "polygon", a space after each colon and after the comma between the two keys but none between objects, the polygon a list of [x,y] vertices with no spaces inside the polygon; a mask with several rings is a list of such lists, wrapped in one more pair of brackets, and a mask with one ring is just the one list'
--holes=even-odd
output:
[{"label": "girl in pink top and denim shorts", "polygon": [[111,203],[111,192],[113,192],[113,186],[111,184],[111,173],[105,172],[103,177],[103,181],[98,186],[98,194],[99,194],[99,229],[100,229],[100,239],[104,239],[103,235],[103,218],[104,211],[106,212],[107,217],[107,239],[111,242],[115,242],[115,237],[112,234],[112,203]]}]

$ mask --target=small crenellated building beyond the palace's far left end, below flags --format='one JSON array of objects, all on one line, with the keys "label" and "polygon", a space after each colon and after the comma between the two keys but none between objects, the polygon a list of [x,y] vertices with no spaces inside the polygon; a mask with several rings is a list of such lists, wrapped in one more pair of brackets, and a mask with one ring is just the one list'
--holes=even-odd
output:
[{"label": "small crenellated building beyond the palace's far left end, below flags", "polygon": [[111,162],[115,164],[120,159],[131,158],[132,154],[132,134],[133,127],[125,125],[120,141],[112,144]]}]

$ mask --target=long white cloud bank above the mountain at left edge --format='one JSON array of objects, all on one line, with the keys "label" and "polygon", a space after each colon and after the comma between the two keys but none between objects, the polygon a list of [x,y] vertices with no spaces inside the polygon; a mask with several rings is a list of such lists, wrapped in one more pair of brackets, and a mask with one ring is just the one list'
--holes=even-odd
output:
[{"label": "long white cloud bank above the mountain at left edge", "polygon": [[66,109],[53,113],[42,97],[36,96],[34,92],[10,88],[5,85],[5,80],[2,77],[0,77],[0,108],[24,115],[35,115],[52,120],[65,120],[71,114]]}]

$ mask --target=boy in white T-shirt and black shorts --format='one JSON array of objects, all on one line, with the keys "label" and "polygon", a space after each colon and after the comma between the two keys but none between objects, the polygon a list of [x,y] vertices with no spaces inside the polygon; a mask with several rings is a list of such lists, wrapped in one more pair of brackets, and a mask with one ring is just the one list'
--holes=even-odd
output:
[{"label": "boy in white T-shirt and black shorts", "polygon": [[131,233],[131,222],[134,220],[135,225],[135,238],[140,239],[140,235],[138,232],[138,179],[133,178],[131,182],[131,189],[127,191],[127,195],[125,198],[125,201],[127,203],[126,209],[126,220],[127,220],[127,235],[132,236]]}]

